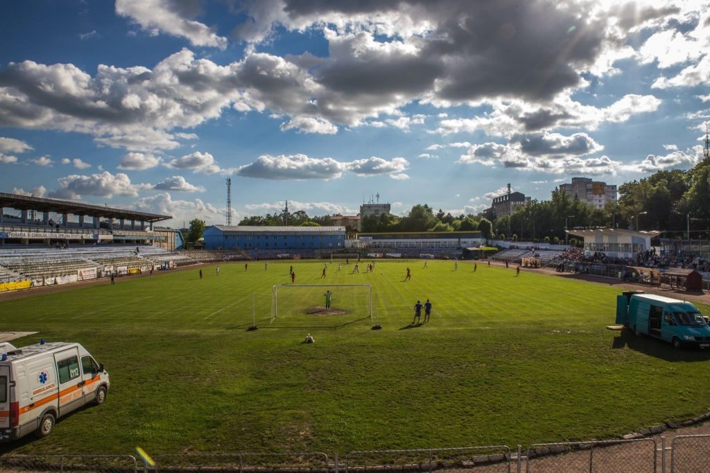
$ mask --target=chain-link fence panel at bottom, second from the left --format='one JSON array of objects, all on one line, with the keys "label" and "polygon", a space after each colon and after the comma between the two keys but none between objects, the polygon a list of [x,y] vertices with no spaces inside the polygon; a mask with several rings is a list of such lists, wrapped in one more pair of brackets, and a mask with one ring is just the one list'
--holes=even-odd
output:
[{"label": "chain-link fence panel at bottom, second from the left", "polygon": [[156,455],[155,472],[186,472],[209,469],[214,472],[327,473],[328,455],[308,453],[234,453],[226,455]]}]

